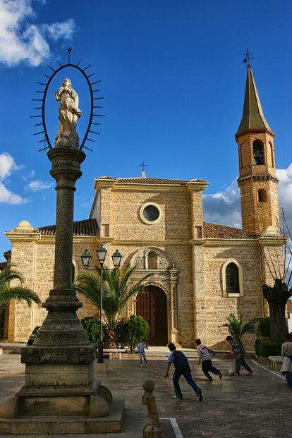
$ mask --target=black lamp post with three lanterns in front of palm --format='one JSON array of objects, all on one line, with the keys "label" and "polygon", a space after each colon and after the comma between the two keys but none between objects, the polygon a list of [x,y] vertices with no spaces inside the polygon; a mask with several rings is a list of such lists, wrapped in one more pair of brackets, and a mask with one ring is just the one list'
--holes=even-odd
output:
[{"label": "black lamp post with three lanterns in front of palm", "polygon": [[[88,250],[85,250],[83,255],[80,256],[83,267],[86,270],[95,271],[95,269],[89,269],[90,263],[92,260],[92,256]],[[97,248],[97,258],[100,264],[100,301],[99,301],[99,342],[98,342],[98,354],[97,354],[97,363],[104,363],[104,345],[102,342],[102,296],[103,296],[103,288],[104,288],[104,260],[107,257],[107,250],[104,248],[104,245],[100,245]],[[113,260],[114,269],[118,269],[121,266],[121,260],[123,256],[121,253],[116,250],[116,252],[111,256]],[[107,269],[111,271],[112,269]]]}]

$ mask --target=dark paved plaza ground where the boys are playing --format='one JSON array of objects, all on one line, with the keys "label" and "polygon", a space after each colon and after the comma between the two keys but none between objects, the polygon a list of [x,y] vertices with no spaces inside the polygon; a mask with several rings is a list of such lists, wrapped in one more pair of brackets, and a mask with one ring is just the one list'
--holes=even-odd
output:
[{"label": "dark paved plaza ground where the boys are playing", "polygon": [[[122,360],[106,360],[107,373],[99,379],[111,389],[114,397],[126,398],[123,433],[107,434],[107,438],[141,437],[142,427],[147,421],[147,408],[141,406],[142,384],[147,379],[154,380],[156,385],[155,396],[162,418],[163,437],[292,437],[292,391],[287,389],[286,381],[279,372],[271,372],[269,367],[255,363],[250,356],[249,363],[254,375],[247,376],[243,371],[241,377],[230,377],[228,371],[233,367],[233,361],[217,355],[214,365],[222,371],[223,379],[214,376],[213,382],[206,382],[197,365],[195,353],[188,351],[186,354],[190,356],[193,377],[203,391],[202,403],[197,401],[197,396],[183,377],[183,401],[172,399],[172,381],[164,380],[166,351],[151,351],[148,354],[148,368],[140,367],[137,355]],[[24,382],[24,371],[20,355],[4,351],[0,356],[0,403],[20,389]],[[80,435],[66,435],[68,438],[76,436]]]}]

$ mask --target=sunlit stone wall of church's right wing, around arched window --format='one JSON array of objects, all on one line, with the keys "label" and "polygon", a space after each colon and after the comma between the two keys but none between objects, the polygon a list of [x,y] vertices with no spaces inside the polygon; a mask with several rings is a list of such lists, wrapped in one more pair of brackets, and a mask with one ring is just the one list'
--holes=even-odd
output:
[{"label": "sunlit stone wall of church's right wing, around arched window", "polygon": [[[206,326],[207,345],[229,349],[224,341],[228,331],[220,325],[232,312],[244,315],[244,321],[262,316],[262,289],[258,264],[258,248],[251,245],[205,246],[205,288],[206,288]],[[243,269],[243,296],[228,297],[222,287],[222,267],[226,259],[235,259]],[[199,335],[199,334],[198,334]],[[200,337],[200,336],[199,336]],[[243,339],[245,347],[253,350],[253,339]]]}]

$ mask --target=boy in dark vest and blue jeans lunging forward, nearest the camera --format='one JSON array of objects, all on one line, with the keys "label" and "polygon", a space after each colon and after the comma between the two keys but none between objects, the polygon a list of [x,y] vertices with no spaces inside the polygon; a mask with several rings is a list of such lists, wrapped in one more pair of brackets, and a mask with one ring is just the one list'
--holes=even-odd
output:
[{"label": "boy in dark vest and blue jeans lunging forward, nearest the camera", "polygon": [[182,351],[176,350],[176,346],[174,345],[174,343],[169,343],[168,347],[171,353],[167,360],[164,379],[169,378],[169,368],[171,366],[171,363],[173,363],[174,376],[172,377],[172,380],[174,382],[174,391],[176,392],[176,395],[173,396],[173,398],[178,400],[183,399],[183,394],[181,394],[181,387],[179,386],[179,379],[181,375],[183,375],[190,387],[192,387],[195,391],[195,394],[197,394],[199,401],[202,401],[202,389],[197,387],[197,384],[192,378],[192,372],[190,370],[190,365],[188,365],[188,359],[185,357]]}]

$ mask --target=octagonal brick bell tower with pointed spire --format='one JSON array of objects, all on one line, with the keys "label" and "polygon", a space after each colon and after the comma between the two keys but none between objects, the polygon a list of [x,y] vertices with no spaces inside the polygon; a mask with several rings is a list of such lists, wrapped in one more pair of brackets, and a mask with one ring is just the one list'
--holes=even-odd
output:
[{"label": "octagonal brick bell tower with pointed spire", "polygon": [[243,229],[264,233],[279,229],[279,206],[274,158],[274,133],[264,118],[253,72],[248,63],[243,117],[235,135],[238,143]]}]

